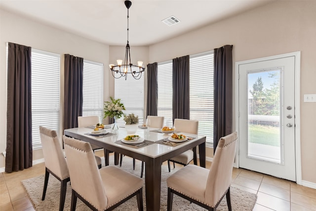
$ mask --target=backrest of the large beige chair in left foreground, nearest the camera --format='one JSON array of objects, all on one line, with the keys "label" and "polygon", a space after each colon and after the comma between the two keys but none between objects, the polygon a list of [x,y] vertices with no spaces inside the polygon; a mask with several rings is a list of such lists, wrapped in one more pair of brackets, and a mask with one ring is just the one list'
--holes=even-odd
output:
[{"label": "backrest of the large beige chair in left foreground, nearest the camera", "polygon": [[72,189],[103,210],[108,200],[90,143],[66,136],[63,140]]}]

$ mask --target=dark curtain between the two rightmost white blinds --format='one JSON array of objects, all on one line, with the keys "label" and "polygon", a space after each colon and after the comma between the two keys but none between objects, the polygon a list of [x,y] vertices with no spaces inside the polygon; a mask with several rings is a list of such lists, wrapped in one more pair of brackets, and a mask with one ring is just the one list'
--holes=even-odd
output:
[{"label": "dark curtain between the two rightmost white blinds", "polygon": [[172,119],[190,119],[190,56],[172,60]]}]

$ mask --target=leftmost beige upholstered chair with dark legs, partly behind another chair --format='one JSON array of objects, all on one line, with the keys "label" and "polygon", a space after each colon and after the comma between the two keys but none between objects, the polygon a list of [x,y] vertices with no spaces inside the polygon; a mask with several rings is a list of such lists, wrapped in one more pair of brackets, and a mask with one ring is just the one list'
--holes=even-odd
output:
[{"label": "leftmost beige upholstered chair with dark legs, partly behind another chair", "polygon": [[[40,126],[40,141],[45,160],[45,179],[41,200],[45,199],[49,173],[61,181],[59,210],[64,209],[67,182],[70,180],[67,162],[55,130]],[[95,156],[99,168],[101,158]]]}]

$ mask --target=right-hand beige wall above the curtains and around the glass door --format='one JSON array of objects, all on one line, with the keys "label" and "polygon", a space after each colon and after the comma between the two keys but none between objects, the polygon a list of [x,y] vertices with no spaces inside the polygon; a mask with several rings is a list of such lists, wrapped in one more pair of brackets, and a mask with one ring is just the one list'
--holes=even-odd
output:
[{"label": "right-hand beige wall above the curtains and around the glass door", "polygon": [[[151,45],[149,61],[161,62],[212,50],[225,44],[234,45],[234,63],[301,51],[302,180],[315,184],[316,103],[303,102],[304,94],[316,93],[315,11],[316,1],[273,2],[180,37]],[[235,73],[235,65],[233,68]],[[211,155],[211,151],[209,154]]]}]

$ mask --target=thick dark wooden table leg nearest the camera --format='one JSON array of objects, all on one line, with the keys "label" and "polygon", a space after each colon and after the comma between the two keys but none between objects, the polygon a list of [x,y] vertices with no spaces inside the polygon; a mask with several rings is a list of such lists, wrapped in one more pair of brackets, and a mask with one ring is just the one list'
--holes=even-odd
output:
[{"label": "thick dark wooden table leg nearest the camera", "polygon": [[145,161],[146,210],[160,210],[161,158]]}]

